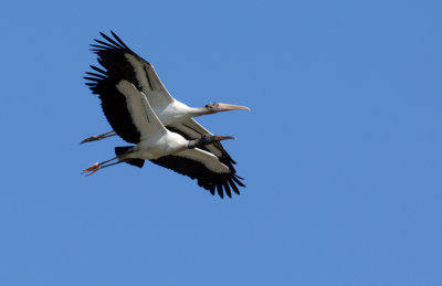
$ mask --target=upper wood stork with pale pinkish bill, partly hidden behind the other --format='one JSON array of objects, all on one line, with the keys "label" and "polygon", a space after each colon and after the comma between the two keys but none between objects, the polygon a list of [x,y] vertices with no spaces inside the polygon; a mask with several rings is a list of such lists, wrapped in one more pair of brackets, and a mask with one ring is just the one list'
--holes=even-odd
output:
[{"label": "upper wood stork with pale pinkish bill, partly hidden behind the other", "polygon": [[[123,78],[134,83],[147,96],[160,121],[165,126],[170,126],[173,131],[180,133],[185,137],[198,138],[209,131],[192,120],[192,117],[234,109],[250,110],[245,106],[223,103],[211,103],[203,107],[189,107],[178,102],[162,85],[154,66],[134,53],[113,31],[110,33],[115,40],[101,33],[107,42],[95,39],[98,44],[92,44],[92,51],[98,55],[98,62],[105,68],[118,70]],[[84,139],[82,144],[112,136],[115,136],[115,133],[108,131],[91,136]],[[218,145],[218,147],[220,146]],[[222,152],[222,150],[218,150],[218,152]]]}]

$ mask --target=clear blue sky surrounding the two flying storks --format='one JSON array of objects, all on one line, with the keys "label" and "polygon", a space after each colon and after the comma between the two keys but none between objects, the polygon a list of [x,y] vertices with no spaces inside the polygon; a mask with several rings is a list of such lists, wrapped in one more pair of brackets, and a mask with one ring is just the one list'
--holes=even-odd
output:
[{"label": "clear blue sky surrounding the two flying storks", "polygon": [[[441,1],[8,1],[0,285],[442,285]],[[82,76],[114,30],[248,188],[146,163]]]}]

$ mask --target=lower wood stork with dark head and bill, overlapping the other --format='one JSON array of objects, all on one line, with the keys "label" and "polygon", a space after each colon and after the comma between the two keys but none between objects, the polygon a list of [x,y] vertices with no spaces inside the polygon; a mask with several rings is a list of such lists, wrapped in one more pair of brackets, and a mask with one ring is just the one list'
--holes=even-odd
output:
[{"label": "lower wood stork with dark head and bill, overlapping the other", "polygon": [[[116,147],[116,157],[94,163],[82,173],[93,174],[99,169],[119,162],[127,162],[141,168],[146,159],[171,169],[191,179],[212,194],[223,198],[223,192],[231,198],[233,190],[240,193],[238,186],[245,187],[236,174],[228,157],[219,158],[201,148],[225,139],[230,136],[203,134],[197,139],[168,130],[150,107],[143,91],[127,80],[122,80],[119,70],[107,71],[93,67],[97,73],[90,73],[88,85],[102,100],[103,112],[115,133],[135,146]],[[229,157],[230,158],[230,157]],[[238,184],[238,186],[236,186]]]}]

